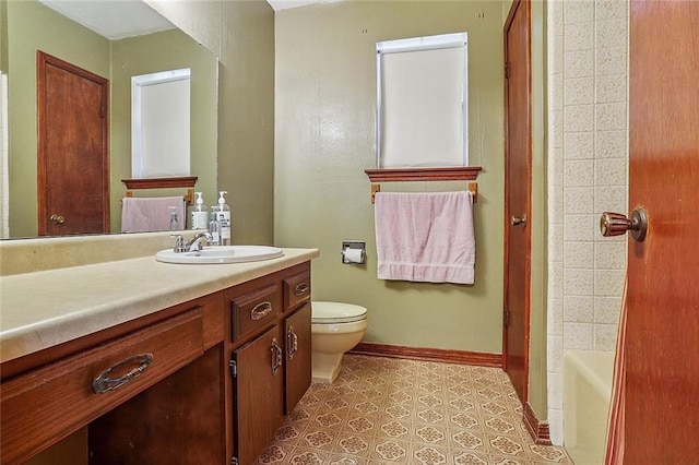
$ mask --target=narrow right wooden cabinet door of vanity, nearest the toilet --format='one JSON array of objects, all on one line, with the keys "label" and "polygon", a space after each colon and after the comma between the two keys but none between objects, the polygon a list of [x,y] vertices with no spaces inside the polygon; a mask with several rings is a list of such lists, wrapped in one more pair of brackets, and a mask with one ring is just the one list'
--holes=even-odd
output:
[{"label": "narrow right wooden cabinet door of vanity, nearest the toilet", "polygon": [[284,413],[288,415],[304,396],[311,379],[310,360],[310,303],[284,320],[286,334],[286,402]]}]

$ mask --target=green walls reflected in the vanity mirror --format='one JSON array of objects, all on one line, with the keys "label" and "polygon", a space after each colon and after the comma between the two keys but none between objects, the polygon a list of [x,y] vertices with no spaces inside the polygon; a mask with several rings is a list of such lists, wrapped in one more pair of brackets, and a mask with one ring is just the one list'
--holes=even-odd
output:
[{"label": "green walls reflected in the vanity mirror", "polygon": [[[71,2],[91,8],[114,2]],[[142,3],[139,1],[138,3]],[[142,3],[145,5],[145,3]],[[147,7],[150,9],[150,7]],[[151,9],[153,13],[154,10]],[[157,13],[155,13],[157,14]],[[104,13],[109,17],[112,13]],[[137,20],[139,17],[135,17]],[[42,50],[92,73],[107,78],[109,99],[110,231],[121,223],[122,179],[131,178],[131,78],[165,70],[191,69],[191,175],[197,190],[212,201],[216,195],[217,58],[183,32],[167,31],[109,39],[69,20],[37,0],[0,2],[0,71],[8,73],[7,162],[9,176],[9,237],[37,235],[37,103],[36,51]],[[126,20],[119,19],[123,25]],[[167,23],[167,22],[166,22]],[[66,192],[71,195],[71,192]],[[182,189],[134,192],[135,196],[186,194]],[[5,198],[3,195],[3,198]],[[74,199],[90,202],[90,199]],[[1,230],[1,229],[0,229]]]}]

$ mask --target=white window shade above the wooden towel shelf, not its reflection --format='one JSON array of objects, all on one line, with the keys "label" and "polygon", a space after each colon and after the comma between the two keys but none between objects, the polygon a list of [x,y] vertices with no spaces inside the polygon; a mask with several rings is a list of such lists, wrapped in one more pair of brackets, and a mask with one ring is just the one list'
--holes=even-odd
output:
[{"label": "white window shade above the wooden towel shelf, not its reflection", "polygon": [[377,44],[379,168],[467,165],[466,34]]}]

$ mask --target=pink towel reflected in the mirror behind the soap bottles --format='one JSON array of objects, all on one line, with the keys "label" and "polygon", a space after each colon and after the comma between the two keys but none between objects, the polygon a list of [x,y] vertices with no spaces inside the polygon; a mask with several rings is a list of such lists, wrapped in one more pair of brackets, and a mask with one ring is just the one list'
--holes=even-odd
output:
[{"label": "pink towel reflected in the mirror behind the soap bottles", "polygon": [[121,199],[121,233],[166,231],[170,228],[170,206],[176,207],[179,229],[185,229],[185,200],[181,196]]}]

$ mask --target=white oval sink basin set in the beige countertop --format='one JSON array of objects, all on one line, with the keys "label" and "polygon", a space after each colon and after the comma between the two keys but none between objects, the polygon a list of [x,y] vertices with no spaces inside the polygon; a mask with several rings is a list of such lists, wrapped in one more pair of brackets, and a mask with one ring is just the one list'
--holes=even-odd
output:
[{"label": "white oval sink basin set in the beige countertop", "polygon": [[283,254],[284,251],[277,247],[221,246],[204,247],[197,252],[175,252],[173,249],[161,250],[155,254],[155,260],[181,264],[244,263],[276,259]]}]

